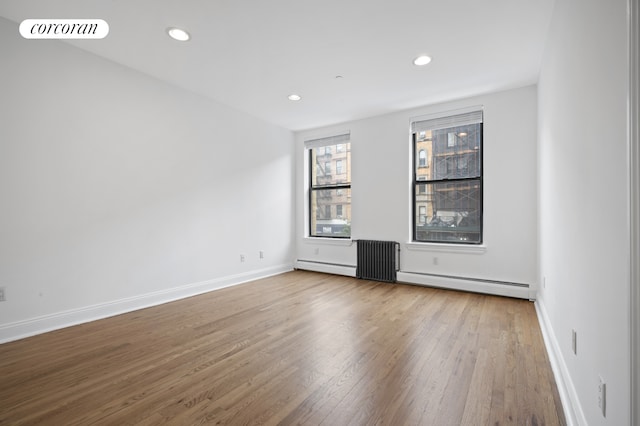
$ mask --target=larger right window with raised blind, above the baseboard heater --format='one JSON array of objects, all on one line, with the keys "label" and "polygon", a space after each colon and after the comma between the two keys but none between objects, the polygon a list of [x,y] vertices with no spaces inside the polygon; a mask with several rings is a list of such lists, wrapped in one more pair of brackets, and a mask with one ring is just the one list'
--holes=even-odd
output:
[{"label": "larger right window with raised blind, above the baseboard heater", "polygon": [[478,110],[411,124],[414,241],[482,243],[482,122]]}]

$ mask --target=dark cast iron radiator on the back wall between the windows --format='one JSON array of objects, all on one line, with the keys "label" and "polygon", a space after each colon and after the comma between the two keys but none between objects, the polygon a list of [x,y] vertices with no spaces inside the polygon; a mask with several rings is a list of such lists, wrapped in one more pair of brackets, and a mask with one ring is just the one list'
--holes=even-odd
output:
[{"label": "dark cast iron radiator on the back wall between the windows", "polygon": [[[356,277],[364,280],[396,282],[400,244],[395,241],[357,240]],[[397,256],[397,262],[396,262]]]}]

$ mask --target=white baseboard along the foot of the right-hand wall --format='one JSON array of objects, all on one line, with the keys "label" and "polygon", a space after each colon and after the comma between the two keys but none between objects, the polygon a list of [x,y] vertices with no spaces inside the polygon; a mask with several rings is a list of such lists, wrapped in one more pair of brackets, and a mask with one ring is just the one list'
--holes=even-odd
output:
[{"label": "white baseboard along the foot of the right-hand wall", "polygon": [[547,348],[547,354],[549,355],[549,362],[551,363],[551,369],[556,379],[556,386],[558,387],[558,393],[560,394],[560,401],[562,402],[562,409],[564,410],[564,416],[568,426],[584,425],[586,426],[587,419],[582,410],[582,405],[578,399],[576,388],[573,385],[571,376],[569,375],[569,369],[562,356],[558,339],[553,332],[553,327],[549,322],[547,311],[544,304],[537,300],[535,303],[536,313],[538,314],[538,322],[540,323],[540,330],[542,331],[542,338]]}]

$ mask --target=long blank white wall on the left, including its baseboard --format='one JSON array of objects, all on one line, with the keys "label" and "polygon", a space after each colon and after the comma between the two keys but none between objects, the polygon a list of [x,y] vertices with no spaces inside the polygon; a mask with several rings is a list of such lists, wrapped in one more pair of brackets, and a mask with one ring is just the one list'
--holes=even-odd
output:
[{"label": "long blank white wall on the left, including its baseboard", "polygon": [[0,39],[0,341],[293,267],[290,131]]}]

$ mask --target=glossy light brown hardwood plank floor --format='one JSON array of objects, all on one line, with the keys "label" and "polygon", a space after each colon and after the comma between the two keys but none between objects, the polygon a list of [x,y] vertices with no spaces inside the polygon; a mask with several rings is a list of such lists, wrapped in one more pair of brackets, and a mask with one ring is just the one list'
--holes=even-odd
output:
[{"label": "glossy light brown hardwood plank floor", "polygon": [[0,345],[0,424],[565,424],[532,303],[294,271]]}]

